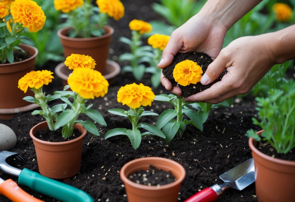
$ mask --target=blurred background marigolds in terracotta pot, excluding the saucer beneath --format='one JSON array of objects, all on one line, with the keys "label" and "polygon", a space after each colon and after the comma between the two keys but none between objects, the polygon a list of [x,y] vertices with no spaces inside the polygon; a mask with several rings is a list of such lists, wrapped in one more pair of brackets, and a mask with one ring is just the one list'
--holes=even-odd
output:
[{"label": "blurred background marigolds in terracotta pot, excluding the saucer beneath", "polygon": [[55,9],[65,13],[66,22],[58,30],[58,36],[64,49],[64,56],[72,53],[91,55],[98,71],[105,74],[109,52],[109,43],[114,29],[107,25],[107,19],[119,20],[124,16],[124,6],[119,0],[97,0],[97,6],[91,0],[64,1],[55,0]]}]

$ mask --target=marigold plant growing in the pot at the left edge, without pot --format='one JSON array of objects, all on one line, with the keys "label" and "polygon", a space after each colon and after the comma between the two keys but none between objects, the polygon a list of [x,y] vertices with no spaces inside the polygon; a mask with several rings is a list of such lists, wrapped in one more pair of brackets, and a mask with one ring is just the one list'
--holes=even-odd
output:
[{"label": "marigold plant growing in the pot at the left edge, without pot", "polygon": [[0,1],[0,61],[1,64],[13,63],[13,50],[22,51],[19,43],[34,45],[34,42],[21,36],[24,28],[38,32],[43,28],[46,16],[41,7],[32,0]]}]

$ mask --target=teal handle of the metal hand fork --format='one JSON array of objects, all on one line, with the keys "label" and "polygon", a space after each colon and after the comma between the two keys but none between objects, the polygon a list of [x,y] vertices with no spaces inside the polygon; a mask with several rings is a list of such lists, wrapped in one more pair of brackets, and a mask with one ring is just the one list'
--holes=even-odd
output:
[{"label": "teal handle of the metal hand fork", "polygon": [[84,191],[63,182],[44,177],[27,168],[24,168],[19,174],[18,182],[59,201],[93,202],[93,199]]}]

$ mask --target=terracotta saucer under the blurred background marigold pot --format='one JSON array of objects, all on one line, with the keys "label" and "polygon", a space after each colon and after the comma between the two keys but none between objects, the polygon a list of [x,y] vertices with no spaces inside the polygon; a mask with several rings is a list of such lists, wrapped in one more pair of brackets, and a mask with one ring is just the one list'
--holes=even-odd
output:
[{"label": "terracotta saucer under the blurred background marigold pot", "polygon": [[[96,70],[96,68],[95,68]],[[109,84],[114,81],[114,78],[120,73],[121,67],[117,62],[112,60],[106,60],[106,71],[104,74],[104,78],[108,80]],[[55,74],[58,75],[63,81],[63,86],[68,85],[68,77],[69,74],[73,72],[73,70],[69,69],[65,66],[64,62],[59,63],[54,70]]]}]

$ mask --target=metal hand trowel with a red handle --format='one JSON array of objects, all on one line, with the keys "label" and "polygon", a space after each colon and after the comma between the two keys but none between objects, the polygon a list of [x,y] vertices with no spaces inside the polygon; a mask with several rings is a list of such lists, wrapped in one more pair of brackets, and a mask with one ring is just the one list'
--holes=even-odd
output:
[{"label": "metal hand trowel with a red handle", "polygon": [[214,184],[211,187],[199,191],[184,202],[213,202],[216,201],[227,188],[242,190],[255,181],[254,160],[250,158],[227,172],[219,175],[224,183]]}]

